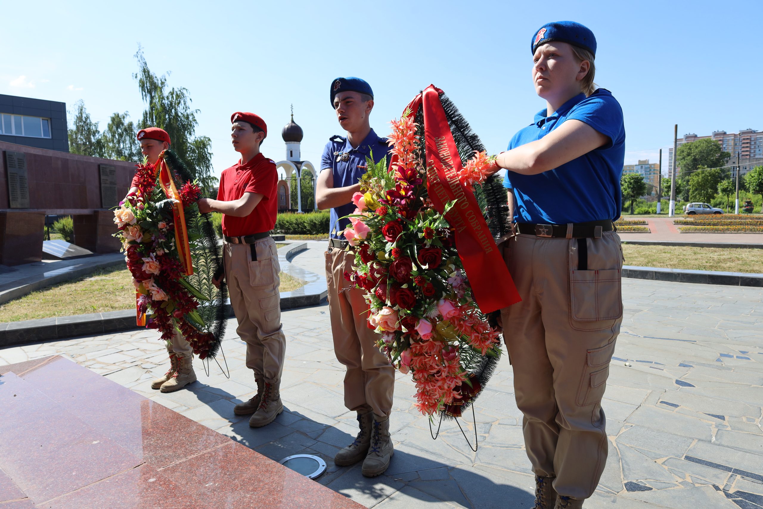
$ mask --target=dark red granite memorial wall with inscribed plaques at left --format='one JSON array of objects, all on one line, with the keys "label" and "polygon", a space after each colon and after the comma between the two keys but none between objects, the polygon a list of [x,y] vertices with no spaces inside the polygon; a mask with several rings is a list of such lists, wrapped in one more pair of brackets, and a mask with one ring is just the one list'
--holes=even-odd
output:
[{"label": "dark red granite memorial wall with inscribed plaques at left", "polygon": [[46,215],[71,215],[74,243],[119,250],[110,208],[130,187],[135,163],[0,142],[0,265],[42,258]]}]

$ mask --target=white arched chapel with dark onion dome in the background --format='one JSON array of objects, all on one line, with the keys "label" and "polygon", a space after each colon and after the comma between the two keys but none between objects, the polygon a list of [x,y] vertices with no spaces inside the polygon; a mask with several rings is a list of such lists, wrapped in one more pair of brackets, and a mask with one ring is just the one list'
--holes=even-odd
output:
[{"label": "white arched chapel with dark onion dome in the background", "polygon": [[[278,181],[278,210],[296,209],[299,213],[309,212],[311,210],[317,210],[315,202],[315,185],[317,182],[317,172],[315,166],[310,161],[303,161],[300,155],[300,143],[304,133],[302,128],[299,127],[294,121],[294,108],[291,108],[291,121],[284,126],[281,130],[281,137],[286,144],[286,159],[275,163],[276,171],[282,176],[282,180]],[[291,185],[291,176],[297,177],[297,182],[301,182],[304,172],[307,171],[311,175],[313,184],[313,198],[310,210],[306,210],[302,204],[302,193],[297,192],[297,203],[291,203],[291,194],[289,193],[289,185]],[[299,186],[298,186],[299,188]]]}]

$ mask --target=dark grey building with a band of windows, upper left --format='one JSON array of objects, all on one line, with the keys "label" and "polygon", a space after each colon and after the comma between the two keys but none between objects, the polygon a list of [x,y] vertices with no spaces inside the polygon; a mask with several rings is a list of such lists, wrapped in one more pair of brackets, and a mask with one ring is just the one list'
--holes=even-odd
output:
[{"label": "dark grey building with a band of windows, upper left", "polygon": [[69,152],[66,103],[0,94],[0,141]]}]

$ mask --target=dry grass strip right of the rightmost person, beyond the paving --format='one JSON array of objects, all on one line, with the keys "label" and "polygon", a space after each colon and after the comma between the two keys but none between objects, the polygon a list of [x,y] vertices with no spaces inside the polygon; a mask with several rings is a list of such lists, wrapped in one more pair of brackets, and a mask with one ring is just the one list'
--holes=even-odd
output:
[{"label": "dry grass strip right of the rightmost person, beyond the paving", "polygon": [[623,242],[625,264],[665,269],[763,273],[763,250],[722,247],[643,246]]}]

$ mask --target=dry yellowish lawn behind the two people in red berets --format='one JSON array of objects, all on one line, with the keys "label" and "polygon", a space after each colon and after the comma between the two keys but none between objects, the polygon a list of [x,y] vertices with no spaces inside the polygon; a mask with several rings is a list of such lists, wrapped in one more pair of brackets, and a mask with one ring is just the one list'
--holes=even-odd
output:
[{"label": "dry yellowish lawn behind the two people in red berets", "polygon": [[[281,292],[305,282],[281,272]],[[0,305],[0,323],[135,308],[135,287],[124,266],[101,269],[75,281],[32,292]]]}]

